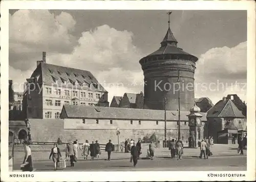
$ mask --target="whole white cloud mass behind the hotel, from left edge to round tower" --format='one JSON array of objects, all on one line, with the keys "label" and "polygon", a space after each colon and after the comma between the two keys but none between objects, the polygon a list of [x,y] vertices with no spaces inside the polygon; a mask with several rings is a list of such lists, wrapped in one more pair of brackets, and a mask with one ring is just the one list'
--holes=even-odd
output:
[{"label": "whole white cloud mass behind the hotel, from left edge to round tower", "polygon": [[10,79],[26,81],[46,51],[47,63],[90,71],[105,84],[110,101],[110,96],[143,90],[139,65],[143,56],[133,44],[132,32],[102,25],[74,38],[70,32],[75,25],[73,17],[64,12],[57,16],[41,10],[15,12],[10,18]]}]

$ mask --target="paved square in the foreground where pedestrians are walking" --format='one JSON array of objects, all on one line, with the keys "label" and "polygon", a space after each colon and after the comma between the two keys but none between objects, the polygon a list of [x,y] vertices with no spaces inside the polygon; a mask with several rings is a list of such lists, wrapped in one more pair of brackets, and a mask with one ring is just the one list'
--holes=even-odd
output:
[{"label": "paved square in the foreground where pedestrians are walking", "polygon": [[[213,156],[208,160],[198,158],[200,154],[199,148],[184,148],[182,160],[177,158],[171,159],[168,148],[157,148],[155,160],[151,161],[145,158],[146,147],[142,148],[141,159],[134,168],[129,162],[130,153],[113,152],[111,161],[105,161],[106,152],[102,152],[99,158],[94,161],[84,160],[79,151],[78,162],[74,168],[59,169],[60,171],[220,171],[220,170],[246,170],[246,150],[244,155],[237,153],[237,145],[215,144],[211,148]],[[50,151],[32,151],[33,166],[35,171],[52,171],[53,162],[49,160]],[[65,152],[61,152],[65,156]],[[24,152],[15,152],[14,170],[19,170],[20,164],[23,162]]]}]

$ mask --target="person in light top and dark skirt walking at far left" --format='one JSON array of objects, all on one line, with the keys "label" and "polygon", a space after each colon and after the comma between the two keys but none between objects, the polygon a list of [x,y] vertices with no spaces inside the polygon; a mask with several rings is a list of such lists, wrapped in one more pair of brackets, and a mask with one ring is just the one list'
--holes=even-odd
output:
[{"label": "person in light top and dark skirt walking at far left", "polygon": [[29,147],[29,142],[24,141],[24,152],[25,152],[25,157],[23,164],[20,165],[20,169],[22,171],[33,171],[33,165],[32,165],[32,157],[31,157],[31,149]]}]

